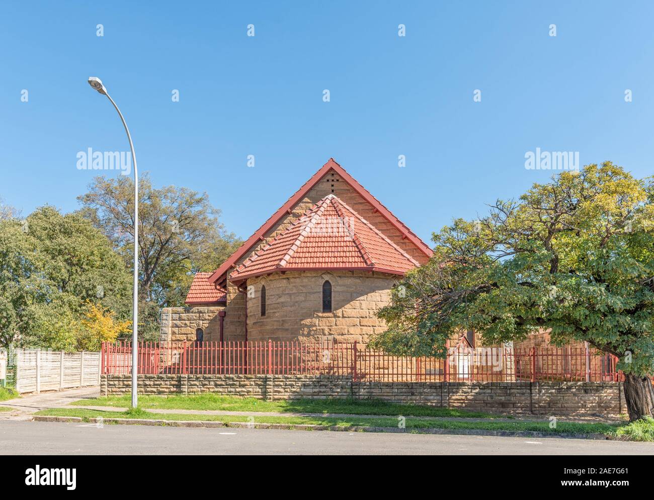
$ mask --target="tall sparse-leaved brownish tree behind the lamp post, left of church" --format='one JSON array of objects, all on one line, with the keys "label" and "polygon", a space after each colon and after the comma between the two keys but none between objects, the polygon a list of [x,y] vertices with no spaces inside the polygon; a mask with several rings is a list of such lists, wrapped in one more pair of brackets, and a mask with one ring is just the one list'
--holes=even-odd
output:
[{"label": "tall sparse-leaved brownish tree behind the lamp post, left of church", "polygon": [[[111,239],[133,263],[133,181],[96,177],[89,192],[78,197],[80,212]],[[194,273],[213,271],[240,244],[219,222],[220,210],[207,193],[188,188],[154,188],[147,175],[139,179],[139,287],[143,299],[179,306]]]}]

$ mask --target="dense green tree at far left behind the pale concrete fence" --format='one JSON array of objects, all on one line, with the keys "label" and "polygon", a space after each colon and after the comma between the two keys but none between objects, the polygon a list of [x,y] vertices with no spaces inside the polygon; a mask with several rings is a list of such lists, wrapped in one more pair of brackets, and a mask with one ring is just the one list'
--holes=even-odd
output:
[{"label": "dense green tree at far left behind the pale concrete fence", "polygon": [[[111,242],[78,214],[41,207],[0,220],[0,344],[75,350],[87,304],[129,318],[129,273]],[[88,343],[88,342],[87,342]]]}]

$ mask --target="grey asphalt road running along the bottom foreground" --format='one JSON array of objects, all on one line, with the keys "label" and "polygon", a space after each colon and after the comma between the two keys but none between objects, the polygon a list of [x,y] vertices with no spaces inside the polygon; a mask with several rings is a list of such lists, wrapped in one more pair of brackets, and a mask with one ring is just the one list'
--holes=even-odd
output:
[{"label": "grey asphalt road running along the bottom foreground", "polygon": [[653,455],[654,443],[2,420],[0,454]]}]

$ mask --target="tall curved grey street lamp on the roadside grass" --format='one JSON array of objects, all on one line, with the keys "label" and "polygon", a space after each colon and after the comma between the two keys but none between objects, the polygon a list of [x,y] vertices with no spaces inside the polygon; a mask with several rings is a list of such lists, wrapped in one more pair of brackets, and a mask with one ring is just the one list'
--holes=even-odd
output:
[{"label": "tall curved grey street lamp on the roadside grass", "polygon": [[92,86],[97,92],[106,95],[111,101],[111,104],[114,105],[116,111],[118,111],[118,116],[120,116],[120,121],[123,122],[125,131],[127,132],[127,139],[129,141],[129,148],[131,149],[131,159],[134,162],[134,311],[132,315],[131,323],[131,407],[137,407],[137,395],[136,395],[136,376],[137,376],[137,354],[138,354],[138,324],[139,324],[139,175],[136,169],[136,154],[134,153],[134,144],[131,142],[131,135],[129,135],[129,129],[125,123],[125,118],[123,118],[120,109],[114,103],[114,100],[111,99],[111,95],[107,93],[107,89],[102,84],[102,80],[95,76],[90,76],[88,79],[88,84]]}]

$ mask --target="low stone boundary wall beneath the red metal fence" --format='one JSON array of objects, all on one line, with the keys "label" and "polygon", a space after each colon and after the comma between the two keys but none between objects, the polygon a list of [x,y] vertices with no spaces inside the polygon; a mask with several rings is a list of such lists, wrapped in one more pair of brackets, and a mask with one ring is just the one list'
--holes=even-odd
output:
[{"label": "low stone boundary wall beneath the red metal fence", "polygon": [[[102,375],[101,395],[126,394],[130,375]],[[617,415],[621,382],[353,382],[351,376],[139,375],[139,393],[216,393],[260,399],[383,399],[487,412]]]}]

